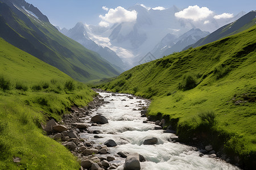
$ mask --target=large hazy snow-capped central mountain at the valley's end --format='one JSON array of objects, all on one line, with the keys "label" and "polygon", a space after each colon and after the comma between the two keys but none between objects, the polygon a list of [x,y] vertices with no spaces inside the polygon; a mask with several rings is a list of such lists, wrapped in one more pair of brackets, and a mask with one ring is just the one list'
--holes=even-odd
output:
[{"label": "large hazy snow-capped central mountain at the valley's end", "polygon": [[[136,11],[136,20],[113,23],[109,27],[85,24],[86,36],[88,36],[86,39],[89,38],[97,45],[113,50],[125,62],[125,69],[138,65],[148,52],[160,57],[165,50],[170,50],[172,47],[175,51],[180,51],[182,48],[179,46],[196,42],[199,38],[207,35],[205,31],[213,32],[221,25],[233,22],[240,15],[243,15],[240,13],[228,19],[214,19],[213,16],[216,14],[212,14],[205,22],[193,22],[192,20],[177,18],[175,14],[181,10],[176,6],[163,10],[153,8],[148,10],[137,4],[128,10]],[[200,32],[196,28],[202,31],[200,30]],[[193,31],[195,35],[183,35],[189,30]],[[61,30],[66,34],[65,31],[67,30]],[[201,35],[196,35],[199,32]],[[180,37],[181,35],[183,37]],[[85,37],[85,35],[81,36]],[[168,41],[168,43],[164,41]]]}]

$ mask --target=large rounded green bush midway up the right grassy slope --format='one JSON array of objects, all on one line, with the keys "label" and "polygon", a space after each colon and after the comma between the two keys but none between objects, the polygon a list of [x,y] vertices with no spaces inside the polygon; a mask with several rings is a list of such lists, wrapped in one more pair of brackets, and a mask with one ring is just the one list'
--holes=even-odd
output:
[{"label": "large rounded green bush midway up the right grassy slope", "polygon": [[181,83],[179,83],[180,90],[191,90],[197,86],[195,75],[187,73],[183,75]]}]

